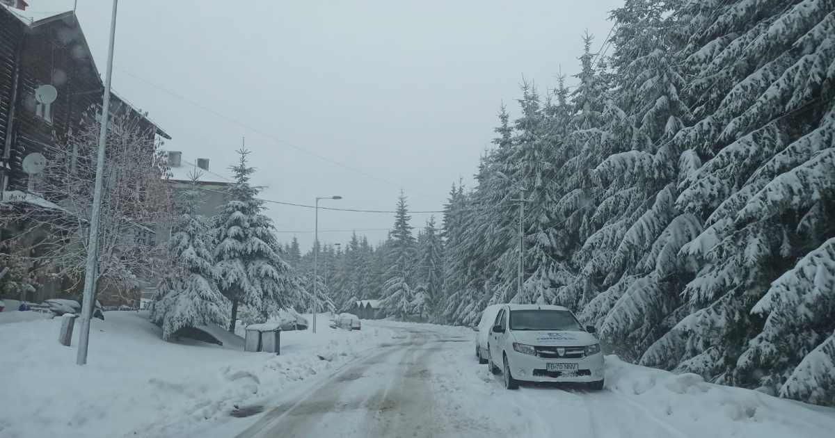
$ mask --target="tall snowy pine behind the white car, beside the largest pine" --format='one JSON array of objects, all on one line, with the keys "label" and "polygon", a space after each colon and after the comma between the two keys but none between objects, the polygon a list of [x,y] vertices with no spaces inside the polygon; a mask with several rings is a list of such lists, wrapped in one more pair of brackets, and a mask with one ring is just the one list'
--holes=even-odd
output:
[{"label": "tall snowy pine behind the white car, beside the largest pine", "polygon": [[600,244],[598,255],[608,254],[592,259],[588,268],[605,274],[602,294],[609,296],[598,302],[612,305],[597,321],[601,340],[633,360],[674,325],[667,316],[681,307],[679,292],[694,274],[694,264],[676,263],[675,255],[672,262],[660,259],[666,263],[660,266],[659,255],[676,254],[701,232],[701,221],[675,209],[681,151],[673,139],[691,120],[680,95],[686,81],[676,63],[681,47],[672,38],[674,19],[665,19],[675,4],[630,0],[613,13],[616,104],[628,115],[606,128],[612,154],[595,174],[604,189],[601,206],[608,209],[610,199],[624,205],[625,188],[631,189],[630,203],[587,240]]}]

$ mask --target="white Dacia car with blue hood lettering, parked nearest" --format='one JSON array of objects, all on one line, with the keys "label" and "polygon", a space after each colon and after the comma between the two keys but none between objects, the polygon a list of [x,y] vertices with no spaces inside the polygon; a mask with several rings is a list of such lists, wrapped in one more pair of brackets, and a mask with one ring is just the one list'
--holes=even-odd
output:
[{"label": "white Dacia car with blue hood lettering, parked nearest", "polygon": [[519,381],[604,384],[603,353],[592,333],[559,305],[504,305],[488,337],[488,366],[504,373],[504,386]]}]

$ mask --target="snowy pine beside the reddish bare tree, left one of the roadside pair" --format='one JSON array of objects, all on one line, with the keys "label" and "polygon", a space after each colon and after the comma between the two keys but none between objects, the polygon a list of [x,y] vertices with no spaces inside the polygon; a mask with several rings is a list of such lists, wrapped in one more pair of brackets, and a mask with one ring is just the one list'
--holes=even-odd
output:
[{"label": "snowy pine beside the reddish bare tree, left one of the roadside pair", "polygon": [[164,340],[187,327],[225,326],[230,319],[229,300],[218,289],[211,221],[196,214],[204,202],[197,187],[200,174],[190,176],[191,184],[175,199],[180,215],[165,244],[169,270],[159,281],[149,309],[151,320],[162,325]]}]

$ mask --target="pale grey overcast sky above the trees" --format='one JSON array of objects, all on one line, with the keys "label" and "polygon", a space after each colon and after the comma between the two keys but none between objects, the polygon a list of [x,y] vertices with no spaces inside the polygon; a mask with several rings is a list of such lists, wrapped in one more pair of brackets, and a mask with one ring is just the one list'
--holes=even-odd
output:
[{"label": "pale grey overcast sky above the trees", "polygon": [[[523,75],[544,90],[560,68],[577,73],[584,30],[598,50],[612,25],[608,12],[622,3],[123,1],[113,85],[170,133],[166,149],[210,159],[216,173],[230,175],[245,137],[264,199],[313,204],[341,195],[320,205],[392,210],[402,188],[410,209],[440,210],[459,177],[473,185],[499,104],[518,113]],[[103,74],[110,5],[78,0]],[[295,232],[303,248],[312,244],[312,209],[269,208],[286,232],[280,239]],[[412,226],[428,216],[413,214]],[[319,210],[322,231],[392,223],[391,214]],[[358,234],[376,243],[386,231]],[[345,243],[350,235],[320,239]]]}]

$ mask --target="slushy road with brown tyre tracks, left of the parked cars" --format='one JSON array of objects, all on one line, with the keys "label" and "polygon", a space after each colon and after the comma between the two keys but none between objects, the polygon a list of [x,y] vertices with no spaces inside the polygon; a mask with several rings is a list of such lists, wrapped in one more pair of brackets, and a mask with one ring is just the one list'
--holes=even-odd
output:
[{"label": "slushy road with brown tyre tracks, left of the parked cars", "polygon": [[[438,411],[429,381],[435,355],[445,344],[467,340],[431,330],[403,328],[376,354],[321,382],[301,397],[268,411],[240,438],[362,436],[445,436],[448,425]],[[432,420],[430,420],[432,419]],[[450,435],[451,436],[451,435]]]}]

